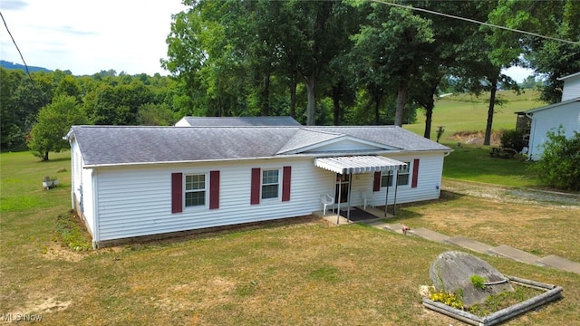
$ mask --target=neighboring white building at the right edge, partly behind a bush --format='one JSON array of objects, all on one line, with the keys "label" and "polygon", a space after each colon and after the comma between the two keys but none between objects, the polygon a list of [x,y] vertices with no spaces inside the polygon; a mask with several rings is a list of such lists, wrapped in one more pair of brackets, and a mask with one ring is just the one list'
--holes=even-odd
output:
[{"label": "neighboring white building at the right edge, partly behind a bush", "polygon": [[565,129],[566,138],[580,132],[580,72],[562,77],[564,81],[562,101],[524,113],[531,121],[527,155],[532,160],[542,157],[543,144],[548,131]]}]

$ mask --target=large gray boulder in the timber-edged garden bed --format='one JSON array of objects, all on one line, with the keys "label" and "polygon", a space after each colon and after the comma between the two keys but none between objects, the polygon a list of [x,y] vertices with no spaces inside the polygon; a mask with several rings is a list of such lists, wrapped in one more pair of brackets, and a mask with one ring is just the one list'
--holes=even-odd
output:
[{"label": "large gray boulder in the timber-edged garden bed", "polygon": [[[478,289],[471,282],[473,275],[485,280],[485,289]],[[489,295],[513,292],[514,288],[502,273],[478,257],[459,251],[440,254],[430,265],[429,276],[435,289],[446,292],[463,292],[463,305],[469,307],[485,302]]]}]

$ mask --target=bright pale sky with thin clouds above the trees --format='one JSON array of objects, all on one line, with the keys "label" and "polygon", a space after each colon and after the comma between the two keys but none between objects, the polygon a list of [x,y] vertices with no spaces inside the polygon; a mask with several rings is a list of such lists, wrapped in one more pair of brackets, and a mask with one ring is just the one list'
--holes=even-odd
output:
[{"label": "bright pale sky with thin clouds above the trees", "polygon": [[[24,61],[75,75],[114,69],[153,75],[167,55],[171,14],[180,0],[0,0],[0,10]],[[1,59],[23,63],[5,27],[0,28]],[[507,70],[517,82],[532,72]]]}]

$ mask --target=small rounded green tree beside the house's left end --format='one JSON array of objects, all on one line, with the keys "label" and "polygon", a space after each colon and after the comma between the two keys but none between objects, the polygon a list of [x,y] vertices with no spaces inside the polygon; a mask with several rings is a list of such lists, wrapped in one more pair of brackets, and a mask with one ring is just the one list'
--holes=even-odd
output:
[{"label": "small rounded green tree beside the house's left end", "polygon": [[61,95],[38,112],[36,123],[26,141],[28,148],[34,156],[46,161],[49,152],[68,149],[69,144],[63,137],[73,125],[85,122],[86,117],[76,99]]}]

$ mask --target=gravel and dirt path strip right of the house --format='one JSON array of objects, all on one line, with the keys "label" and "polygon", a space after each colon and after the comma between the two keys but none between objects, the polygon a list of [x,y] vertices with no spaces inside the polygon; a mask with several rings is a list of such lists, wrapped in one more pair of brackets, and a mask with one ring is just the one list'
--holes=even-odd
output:
[{"label": "gravel and dirt path strip right of the house", "polygon": [[565,206],[580,209],[580,195],[530,188],[512,188],[445,178],[443,190],[484,197],[498,202],[534,204],[541,206]]}]

